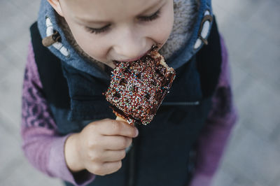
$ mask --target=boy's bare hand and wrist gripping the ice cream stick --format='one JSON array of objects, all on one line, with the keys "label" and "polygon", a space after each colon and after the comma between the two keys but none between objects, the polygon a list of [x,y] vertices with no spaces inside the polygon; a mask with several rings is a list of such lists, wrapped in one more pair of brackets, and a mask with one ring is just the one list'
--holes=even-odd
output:
[{"label": "boy's bare hand and wrist gripping the ice cream stick", "polygon": [[73,172],[87,169],[104,176],[121,168],[125,148],[138,136],[136,127],[117,120],[91,122],[78,134],[72,134],[65,143],[65,160]]}]

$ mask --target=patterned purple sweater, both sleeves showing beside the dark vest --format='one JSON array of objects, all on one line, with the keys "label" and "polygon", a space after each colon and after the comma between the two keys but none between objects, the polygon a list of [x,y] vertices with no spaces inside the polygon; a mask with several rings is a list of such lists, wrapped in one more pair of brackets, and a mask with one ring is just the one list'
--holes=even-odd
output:
[{"label": "patterned purple sweater, both sleeves showing beside the dark vest", "polygon": [[[230,131],[237,120],[237,113],[232,103],[230,87],[230,67],[228,54],[223,39],[222,71],[218,87],[212,99],[213,107],[198,139],[197,164],[191,186],[209,186],[218,169],[223,150],[230,136]],[[64,143],[67,136],[59,136],[48,102],[43,96],[42,84],[34,59],[31,43],[22,91],[22,149],[29,162],[48,176],[61,178],[74,185],[87,185],[94,180],[94,175],[85,173],[76,177],[66,166]]]}]

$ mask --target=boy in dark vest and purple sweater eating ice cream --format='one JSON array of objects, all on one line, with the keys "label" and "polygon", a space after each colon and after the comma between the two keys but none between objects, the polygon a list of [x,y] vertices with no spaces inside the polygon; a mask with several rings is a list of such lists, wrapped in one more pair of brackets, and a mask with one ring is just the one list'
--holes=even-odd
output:
[{"label": "boy in dark vest and purple sweater eating ice cream", "polygon": [[[210,184],[236,118],[210,1],[43,0],[31,36],[22,138],[34,166],[66,185]],[[177,76],[153,122],[132,127],[102,92],[113,60],[152,45]]]}]

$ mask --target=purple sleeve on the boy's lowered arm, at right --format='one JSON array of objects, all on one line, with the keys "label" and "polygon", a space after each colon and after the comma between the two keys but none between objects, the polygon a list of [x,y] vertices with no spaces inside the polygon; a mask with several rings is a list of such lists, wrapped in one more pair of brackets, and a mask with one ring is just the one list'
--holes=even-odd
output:
[{"label": "purple sleeve on the boy's lowered arm, at right", "polygon": [[213,106],[197,141],[196,169],[191,186],[209,186],[218,169],[223,150],[237,120],[230,87],[230,66],[225,43],[221,37],[222,66]]}]

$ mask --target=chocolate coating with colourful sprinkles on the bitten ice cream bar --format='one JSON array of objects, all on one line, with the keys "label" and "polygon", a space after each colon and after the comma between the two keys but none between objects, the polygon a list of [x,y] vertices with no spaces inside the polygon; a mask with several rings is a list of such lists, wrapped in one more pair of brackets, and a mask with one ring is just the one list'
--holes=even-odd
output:
[{"label": "chocolate coating with colourful sprinkles on the bitten ice cream bar", "polygon": [[106,100],[129,123],[151,122],[175,78],[174,69],[167,69],[163,57],[152,52],[134,62],[115,62]]}]

